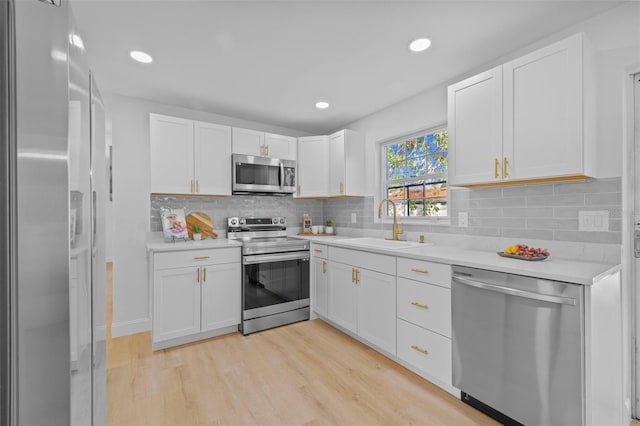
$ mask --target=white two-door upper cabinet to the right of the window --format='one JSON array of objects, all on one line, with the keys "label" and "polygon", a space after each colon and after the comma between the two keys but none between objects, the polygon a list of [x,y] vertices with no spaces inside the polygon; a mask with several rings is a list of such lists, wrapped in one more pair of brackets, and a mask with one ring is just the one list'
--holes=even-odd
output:
[{"label": "white two-door upper cabinet to the right of the window", "polygon": [[591,62],[577,34],[449,86],[449,183],[592,177]]}]

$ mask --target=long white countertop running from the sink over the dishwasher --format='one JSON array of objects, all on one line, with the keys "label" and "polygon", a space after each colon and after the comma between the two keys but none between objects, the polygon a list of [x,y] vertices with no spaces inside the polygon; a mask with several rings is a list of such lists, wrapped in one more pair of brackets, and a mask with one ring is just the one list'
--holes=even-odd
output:
[{"label": "long white countertop running from the sink over the dishwasher", "polygon": [[[426,260],[449,265],[468,266],[509,274],[563,281],[574,284],[593,285],[601,279],[618,272],[620,264],[580,262],[555,258],[553,253],[545,260],[527,261],[500,257],[495,252],[466,250],[443,245],[424,245],[400,250],[385,250],[354,246],[348,243],[349,237],[308,237],[312,242],[329,246],[388,254],[409,259]],[[342,241],[342,242],[341,242]]]}]

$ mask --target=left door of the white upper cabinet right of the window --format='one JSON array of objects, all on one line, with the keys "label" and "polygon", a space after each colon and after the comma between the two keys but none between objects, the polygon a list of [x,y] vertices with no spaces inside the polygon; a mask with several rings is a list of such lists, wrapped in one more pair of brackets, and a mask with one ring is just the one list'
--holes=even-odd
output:
[{"label": "left door of the white upper cabinet right of the window", "polygon": [[449,184],[502,179],[502,67],[448,89]]}]

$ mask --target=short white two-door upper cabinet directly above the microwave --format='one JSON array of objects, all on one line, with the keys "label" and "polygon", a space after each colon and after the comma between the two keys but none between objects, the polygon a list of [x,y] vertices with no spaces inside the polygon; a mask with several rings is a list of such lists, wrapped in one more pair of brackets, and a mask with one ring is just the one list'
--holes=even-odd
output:
[{"label": "short white two-door upper cabinet directly above the microwave", "polygon": [[291,136],[233,128],[233,153],[295,160],[297,139]]}]

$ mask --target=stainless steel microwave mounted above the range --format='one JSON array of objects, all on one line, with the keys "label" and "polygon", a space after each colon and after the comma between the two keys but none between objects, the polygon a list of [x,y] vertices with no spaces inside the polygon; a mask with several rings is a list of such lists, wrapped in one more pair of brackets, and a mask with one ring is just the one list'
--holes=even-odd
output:
[{"label": "stainless steel microwave mounted above the range", "polygon": [[296,192],[296,162],[255,155],[233,154],[234,194],[286,195]]}]

